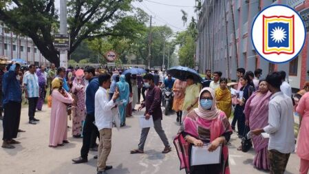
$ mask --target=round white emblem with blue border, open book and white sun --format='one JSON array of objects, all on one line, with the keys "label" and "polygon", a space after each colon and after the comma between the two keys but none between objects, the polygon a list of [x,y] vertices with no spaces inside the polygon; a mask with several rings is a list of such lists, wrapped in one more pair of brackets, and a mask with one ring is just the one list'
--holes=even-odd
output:
[{"label": "round white emblem with blue border, open book and white sun", "polygon": [[301,52],[306,40],[306,28],[294,9],[273,5],[257,14],[251,35],[259,56],[272,63],[286,63]]}]

